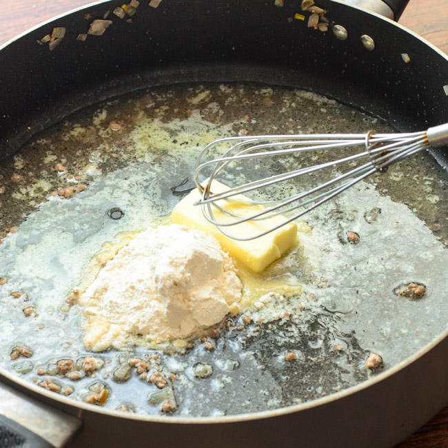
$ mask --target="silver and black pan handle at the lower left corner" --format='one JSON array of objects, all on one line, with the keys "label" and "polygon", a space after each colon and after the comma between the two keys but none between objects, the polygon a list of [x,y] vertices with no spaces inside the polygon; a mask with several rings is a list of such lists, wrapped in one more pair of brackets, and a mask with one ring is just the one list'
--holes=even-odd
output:
[{"label": "silver and black pan handle at the lower left corner", "polygon": [[63,448],[81,421],[0,382],[0,447]]}]

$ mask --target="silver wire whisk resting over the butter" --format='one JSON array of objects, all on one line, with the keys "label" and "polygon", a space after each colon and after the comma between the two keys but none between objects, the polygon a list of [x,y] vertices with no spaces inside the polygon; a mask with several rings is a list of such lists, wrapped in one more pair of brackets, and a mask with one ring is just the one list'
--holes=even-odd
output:
[{"label": "silver wire whisk resting over the butter", "polygon": [[[213,160],[205,160],[207,154],[222,152],[222,156]],[[200,205],[207,221],[216,225],[223,234],[239,241],[248,241],[273,232],[278,228],[291,223],[319,205],[334,198],[334,196],[352,187],[359,181],[366,179],[375,172],[384,172],[390,165],[416,154],[430,147],[448,145],[448,123],[429,128],[421,132],[403,134],[376,134],[369,131],[365,134],[297,134],[297,135],[258,135],[227,137],[213,141],[204,147],[196,160],[194,169],[194,182],[201,192]],[[340,159],[326,160],[332,154],[348,147],[360,147],[360,152],[343,156]],[[316,159],[316,165],[302,167],[301,156],[311,154]],[[296,169],[287,170],[279,174],[242,183],[241,185],[223,188],[218,184],[218,176],[226,178],[227,170],[232,168],[232,176],[238,174],[239,163],[250,163],[246,171],[256,167],[261,160],[270,159],[275,164],[281,156],[294,156]],[[323,160],[324,159],[324,160]],[[363,159],[365,159],[363,161]],[[360,163],[362,161],[363,163]],[[291,162],[289,162],[291,163]],[[293,163],[293,165],[294,165]],[[341,165],[349,165],[347,172],[337,170]],[[352,167],[353,165],[356,165]],[[320,176],[320,172],[329,168],[334,177],[308,190],[293,192],[284,197],[269,197],[267,200],[256,199],[260,196],[257,190],[270,188],[269,195],[278,189],[278,183],[297,181],[305,174]],[[241,170],[241,167],[240,167]],[[199,175],[207,172],[207,180],[201,183]],[[255,170],[254,170],[255,171]],[[229,178],[229,176],[227,176]],[[216,187],[215,187],[216,185]],[[217,187],[219,185],[219,187]],[[274,190],[272,187],[276,186]],[[281,190],[281,189],[280,189]],[[245,194],[255,196],[248,198]],[[244,196],[242,196],[244,195]],[[241,207],[229,207],[234,204]],[[240,210],[241,209],[241,212]],[[219,219],[216,216],[219,215]],[[284,218],[275,219],[282,215]],[[273,225],[250,236],[241,236],[228,232],[228,228],[247,221],[271,220]],[[235,227],[237,229],[237,227]]]}]

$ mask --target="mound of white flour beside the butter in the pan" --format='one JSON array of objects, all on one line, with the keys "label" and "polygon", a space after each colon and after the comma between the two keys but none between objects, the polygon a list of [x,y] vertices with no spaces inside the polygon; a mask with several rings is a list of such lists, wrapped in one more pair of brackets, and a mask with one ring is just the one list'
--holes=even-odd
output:
[{"label": "mound of white flour beside the butter in the pan", "polygon": [[163,342],[214,325],[241,299],[241,281],[218,241],[183,225],[141,232],[82,295],[84,344],[98,351],[118,336]]}]

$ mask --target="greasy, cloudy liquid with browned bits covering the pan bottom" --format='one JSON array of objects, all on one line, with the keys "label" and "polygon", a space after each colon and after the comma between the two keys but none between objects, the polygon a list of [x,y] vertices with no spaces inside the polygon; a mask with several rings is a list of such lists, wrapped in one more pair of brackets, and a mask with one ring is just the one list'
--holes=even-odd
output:
[{"label": "greasy, cloudy liquid with browned bits covering the pan bottom", "polygon": [[[243,314],[203,339],[155,346],[132,335],[124,347],[92,354],[81,343],[84,310],[70,298],[94,277],[95,255],[170,222],[192,186],[198,151],[210,141],[238,132],[371,128],[392,130],[309,92],[180,85],[92,106],[42,132],[0,172],[0,367],[111,409],[221,416],[334,394],[418,352],[448,316],[447,178],[427,154],[308,214],[298,245],[252,279],[263,294],[279,279],[302,292],[272,294],[265,303],[254,296]],[[227,181],[314,164],[315,156],[260,161],[230,170]],[[284,184],[275,193],[298,187]],[[110,210],[120,210],[120,218]],[[425,294],[409,293],[409,283],[425,285]],[[372,352],[383,362],[367,368]]]}]

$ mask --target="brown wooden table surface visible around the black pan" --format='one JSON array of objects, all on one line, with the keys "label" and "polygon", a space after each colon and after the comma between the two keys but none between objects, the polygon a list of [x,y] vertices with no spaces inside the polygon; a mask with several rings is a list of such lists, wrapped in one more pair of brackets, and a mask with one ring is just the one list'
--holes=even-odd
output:
[{"label": "brown wooden table surface visible around the black pan", "polygon": [[[0,45],[42,21],[88,3],[92,1],[0,0]],[[400,23],[448,54],[448,0],[411,0]],[[448,448],[448,405],[396,448]]]}]

